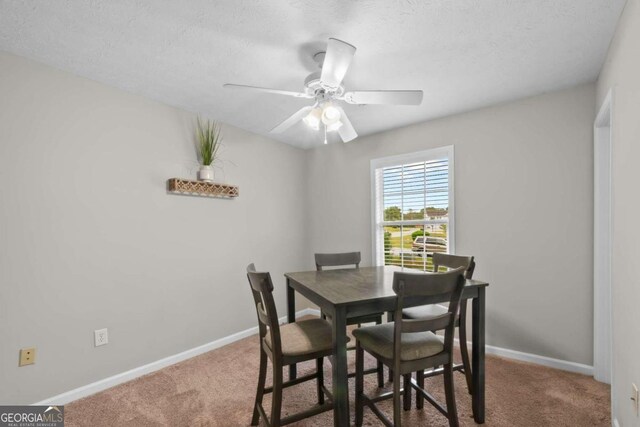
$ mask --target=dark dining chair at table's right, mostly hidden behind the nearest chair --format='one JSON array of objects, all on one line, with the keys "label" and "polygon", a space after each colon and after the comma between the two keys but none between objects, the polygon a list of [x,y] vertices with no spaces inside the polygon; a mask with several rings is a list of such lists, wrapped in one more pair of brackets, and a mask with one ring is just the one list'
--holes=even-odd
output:
[{"label": "dark dining chair at table's right, mostly hidden behind the nearest chair", "polygon": [[[463,267],[465,269],[464,276],[466,279],[473,277],[473,271],[476,263],[472,256],[451,255],[443,253],[433,254],[433,271],[437,272],[440,267],[447,269]],[[447,312],[447,307],[441,304],[422,305],[417,307],[405,308],[402,311],[402,317],[405,319],[431,319]],[[467,348],[467,300],[460,301],[460,315],[456,318],[456,326],[458,327],[458,338],[460,345],[460,356],[462,359],[462,369],[460,370],[467,381],[467,390],[471,394],[472,377],[471,377],[471,361],[469,360],[469,349]]]}]

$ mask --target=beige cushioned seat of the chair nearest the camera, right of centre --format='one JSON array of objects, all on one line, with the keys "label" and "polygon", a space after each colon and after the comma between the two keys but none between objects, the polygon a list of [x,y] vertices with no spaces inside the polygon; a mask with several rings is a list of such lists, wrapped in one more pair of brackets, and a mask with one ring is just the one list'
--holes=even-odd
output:
[{"label": "beige cushioned seat of the chair nearest the camera, right of centre", "polygon": [[[386,359],[393,359],[394,323],[365,326],[353,331],[353,336],[360,341],[365,350],[379,354]],[[401,335],[400,360],[424,359],[444,350],[442,337],[433,332],[406,333]]]}]

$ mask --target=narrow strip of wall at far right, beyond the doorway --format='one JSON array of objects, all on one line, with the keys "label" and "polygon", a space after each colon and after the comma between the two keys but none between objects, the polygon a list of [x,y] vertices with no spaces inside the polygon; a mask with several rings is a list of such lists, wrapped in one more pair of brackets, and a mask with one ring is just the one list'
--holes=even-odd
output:
[{"label": "narrow strip of wall at far right, beyond the doorway", "polygon": [[612,307],[614,417],[640,426],[631,383],[640,386],[640,1],[628,0],[598,79],[598,105],[612,104]]}]

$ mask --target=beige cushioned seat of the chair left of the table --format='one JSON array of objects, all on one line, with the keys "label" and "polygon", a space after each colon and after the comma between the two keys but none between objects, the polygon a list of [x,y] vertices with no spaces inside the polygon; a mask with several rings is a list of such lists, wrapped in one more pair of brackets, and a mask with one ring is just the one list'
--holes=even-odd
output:
[{"label": "beige cushioned seat of the chair left of the table", "polygon": [[[302,356],[305,354],[329,351],[332,349],[331,324],[324,319],[309,319],[287,323],[280,326],[280,340],[284,356]],[[264,338],[271,346],[271,334]]]}]

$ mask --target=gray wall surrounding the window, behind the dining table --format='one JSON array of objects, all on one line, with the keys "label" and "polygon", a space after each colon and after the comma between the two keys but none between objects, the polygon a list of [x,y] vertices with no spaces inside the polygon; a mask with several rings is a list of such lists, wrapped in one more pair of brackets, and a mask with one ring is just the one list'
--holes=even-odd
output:
[{"label": "gray wall surrounding the window, behind the dining table", "polygon": [[312,251],[371,262],[370,160],[455,146],[456,251],[491,283],[494,346],[592,364],[594,85],[308,153]]}]

